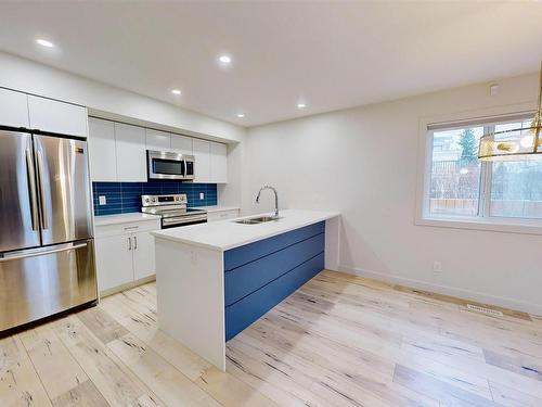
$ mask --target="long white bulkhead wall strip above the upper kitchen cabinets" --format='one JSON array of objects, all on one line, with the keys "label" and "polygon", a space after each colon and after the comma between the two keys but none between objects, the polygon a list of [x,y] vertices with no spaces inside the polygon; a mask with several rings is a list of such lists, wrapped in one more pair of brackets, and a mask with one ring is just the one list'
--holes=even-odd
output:
[{"label": "long white bulkhead wall strip above the upper kitchen cabinets", "polygon": [[134,124],[218,141],[238,142],[246,132],[230,123],[3,52],[0,87],[80,104],[112,119],[128,118]]}]

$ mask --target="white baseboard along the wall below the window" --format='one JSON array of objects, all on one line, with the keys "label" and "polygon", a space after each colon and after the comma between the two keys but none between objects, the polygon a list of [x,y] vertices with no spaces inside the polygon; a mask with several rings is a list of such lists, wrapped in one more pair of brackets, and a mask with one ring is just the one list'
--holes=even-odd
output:
[{"label": "white baseboard along the wall below the window", "polygon": [[491,294],[485,294],[477,291],[460,289],[456,287],[441,285],[433,282],[409,279],[401,276],[388,275],[385,272],[365,270],[358,267],[339,266],[338,271],[347,272],[359,277],[366,277],[384,282],[391,282],[417,290],[430,291],[437,294],[455,296],[462,300],[470,300],[477,303],[495,305],[503,308],[515,309],[533,315],[542,315],[542,305],[526,303],[514,298],[501,297]]}]

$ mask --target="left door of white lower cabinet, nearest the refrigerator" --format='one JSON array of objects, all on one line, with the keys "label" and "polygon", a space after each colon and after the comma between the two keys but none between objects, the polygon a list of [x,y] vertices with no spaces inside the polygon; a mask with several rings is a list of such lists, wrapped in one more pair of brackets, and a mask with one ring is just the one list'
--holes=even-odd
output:
[{"label": "left door of white lower cabinet, nearest the refrigerator", "polygon": [[133,245],[131,234],[95,239],[98,283],[100,291],[133,281]]}]

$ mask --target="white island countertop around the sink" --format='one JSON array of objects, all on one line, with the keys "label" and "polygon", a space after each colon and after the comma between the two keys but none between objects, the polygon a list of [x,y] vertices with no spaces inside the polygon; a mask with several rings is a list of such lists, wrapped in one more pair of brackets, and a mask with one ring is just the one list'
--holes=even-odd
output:
[{"label": "white island countertop around the sink", "polygon": [[[319,221],[327,220],[339,215],[338,212],[284,209],[280,212],[281,219],[259,225],[241,225],[229,219],[157,230],[151,233],[154,234],[156,239],[193,244],[211,250],[227,251],[294,229],[299,229],[304,226],[318,224]],[[246,217],[254,216],[260,215]]]}]

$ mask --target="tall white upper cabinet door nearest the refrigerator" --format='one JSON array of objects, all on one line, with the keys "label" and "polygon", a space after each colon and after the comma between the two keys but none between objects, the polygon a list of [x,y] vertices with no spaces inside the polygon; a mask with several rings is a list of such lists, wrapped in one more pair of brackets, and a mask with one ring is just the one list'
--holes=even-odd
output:
[{"label": "tall white upper cabinet door nearest the refrigerator", "polygon": [[117,180],[115,125],[89,117],[90,178],[93,181]]}]

